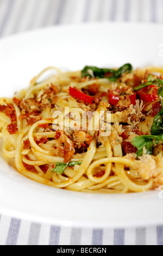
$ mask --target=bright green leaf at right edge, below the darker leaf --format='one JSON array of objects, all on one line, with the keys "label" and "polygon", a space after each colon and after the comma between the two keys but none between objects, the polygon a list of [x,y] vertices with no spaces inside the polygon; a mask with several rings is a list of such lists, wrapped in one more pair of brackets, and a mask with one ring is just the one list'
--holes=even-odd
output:
[{"label": "bright green leaf at right edge, below the darker leaf", "polygon": [[137,148],[137,156],[143,154],[143,148],[146,148],[147,154],[153,155],[154,145],[163,140],[163,133],[159,136],[155,135],[142,135],[133,138],[132,145]]}]

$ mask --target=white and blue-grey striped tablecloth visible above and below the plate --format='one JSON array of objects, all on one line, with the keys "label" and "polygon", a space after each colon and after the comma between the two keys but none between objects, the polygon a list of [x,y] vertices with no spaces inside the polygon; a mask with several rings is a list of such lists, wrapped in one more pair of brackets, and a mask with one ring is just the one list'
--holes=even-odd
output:
[{"label": "white and blue-grey striped tablecloth visible above and below the plate", "polygon": [[[163,0],[0,0],[0,37],[65,23],[162,23],[162,14]],[[163,245],[163,227],[55,227],[0,213],[0,245]]]}]

